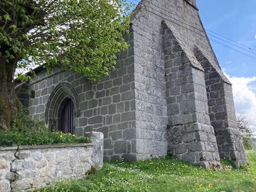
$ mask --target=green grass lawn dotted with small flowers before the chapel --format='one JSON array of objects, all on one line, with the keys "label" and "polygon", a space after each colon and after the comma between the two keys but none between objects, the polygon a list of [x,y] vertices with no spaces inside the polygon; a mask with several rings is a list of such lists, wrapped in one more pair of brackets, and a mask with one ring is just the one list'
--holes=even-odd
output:
[{"label": "green grass lawn dotted with small flowers before the chapel", "polygon": [[175,157],[136,163],[105,162],[102,170],[86,179],[69,180],[35,191],[256,191],[256,150],[247,151],[247,155],[249,166],[220,171],[191,166]]}]

